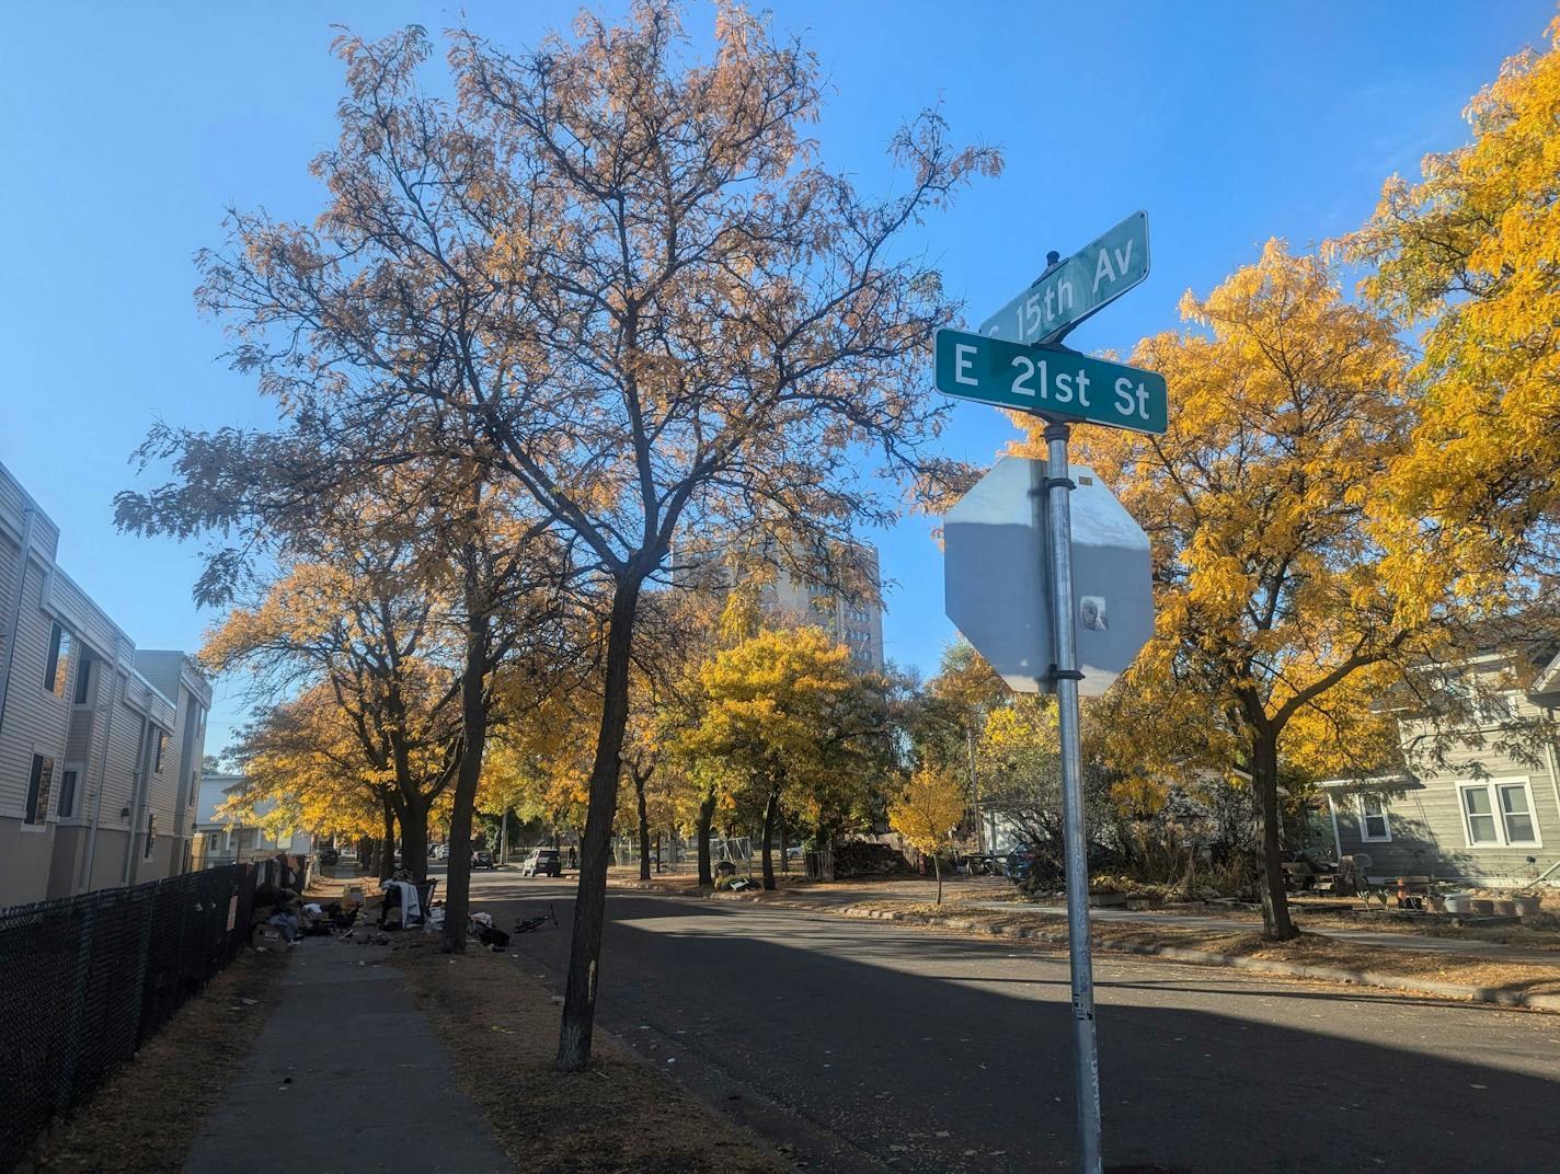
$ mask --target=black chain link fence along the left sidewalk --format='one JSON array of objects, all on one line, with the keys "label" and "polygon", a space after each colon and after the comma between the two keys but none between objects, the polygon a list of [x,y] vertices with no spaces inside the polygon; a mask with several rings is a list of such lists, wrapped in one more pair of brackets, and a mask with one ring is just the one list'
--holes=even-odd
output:
[{"label": "black chain link fence along the left sidewalk", "polygon": [[0,1171],[237,956],[253,896],[236,864],[0,909]]}]

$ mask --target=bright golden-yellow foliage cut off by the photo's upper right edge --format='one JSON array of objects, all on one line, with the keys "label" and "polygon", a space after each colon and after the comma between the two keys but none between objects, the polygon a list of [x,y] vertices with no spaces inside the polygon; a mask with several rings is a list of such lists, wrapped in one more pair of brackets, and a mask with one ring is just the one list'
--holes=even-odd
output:
[{"label": "bright golden-yellow foliage cut off by the photo's upper right edge", "polygon": [[1371,494],[1393,586],[1426,610],[1446,578],[1509,613],[1555,586],[1560,19],[1548,37],[1473,98],[1473,142],[1388,179],[1346,240],[1367,296],[1426,326],[1412,444]]}]

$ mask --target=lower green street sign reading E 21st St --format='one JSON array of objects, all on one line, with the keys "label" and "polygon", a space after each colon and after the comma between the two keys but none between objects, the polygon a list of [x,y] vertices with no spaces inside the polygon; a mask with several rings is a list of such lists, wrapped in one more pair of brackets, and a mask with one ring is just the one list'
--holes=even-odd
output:
[{"label": "lower green street sign reading E 21st St", "polygon": [[938,391],[1055,419],[1084,419],[1162,435],[1165,377],[1076,351],[938,331]]}]

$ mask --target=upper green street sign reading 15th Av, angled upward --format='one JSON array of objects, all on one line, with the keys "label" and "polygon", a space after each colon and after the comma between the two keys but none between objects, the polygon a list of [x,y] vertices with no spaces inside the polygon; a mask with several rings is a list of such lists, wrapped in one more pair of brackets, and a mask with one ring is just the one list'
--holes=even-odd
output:
[{"label": "upper green street sign reading 15th Av, angled upward", "polygon": [[980,324],[1009,343],[1055,343],[1101,306],[1148,276],[1148,214],[1133,212],[1047,270],[1030,288]]}]

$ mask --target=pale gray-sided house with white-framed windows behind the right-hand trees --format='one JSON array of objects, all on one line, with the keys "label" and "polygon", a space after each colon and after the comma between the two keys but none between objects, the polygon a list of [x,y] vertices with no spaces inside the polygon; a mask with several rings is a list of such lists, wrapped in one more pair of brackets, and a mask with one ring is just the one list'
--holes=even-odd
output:
[{"label": "pale gray-sided house with white-framed windows behind the right-hand trees", "polygon": [[[1504,667],[1491,658],[1477,670]],[[1431,764],[1420,748],[1423,723],[1404,719],[1407,773],[1323,783],[1338,856],[1368,856],[1363,872],[1371,881],[1412,875],[1490,887],[1560,884],[1560,751],[1552,731],[1523,751],[1498,745],[1533,719],[1554,720],[1560,655],[1532,686],[1507,691],[1501,702],[1466,727],[1466,741],[1445,764]]]}]

